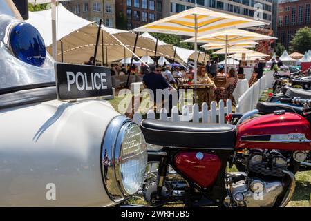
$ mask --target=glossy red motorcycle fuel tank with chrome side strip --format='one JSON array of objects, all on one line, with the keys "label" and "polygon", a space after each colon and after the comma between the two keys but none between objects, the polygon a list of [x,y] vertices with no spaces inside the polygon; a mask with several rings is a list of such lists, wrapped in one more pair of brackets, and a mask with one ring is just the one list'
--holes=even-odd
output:
[{"label": "glossy red motorcycle fuel tank with chrome side strip", "polygon": [[236,148],[310,150],[310,123],[296,113],[273,113],[238,125]]}]

